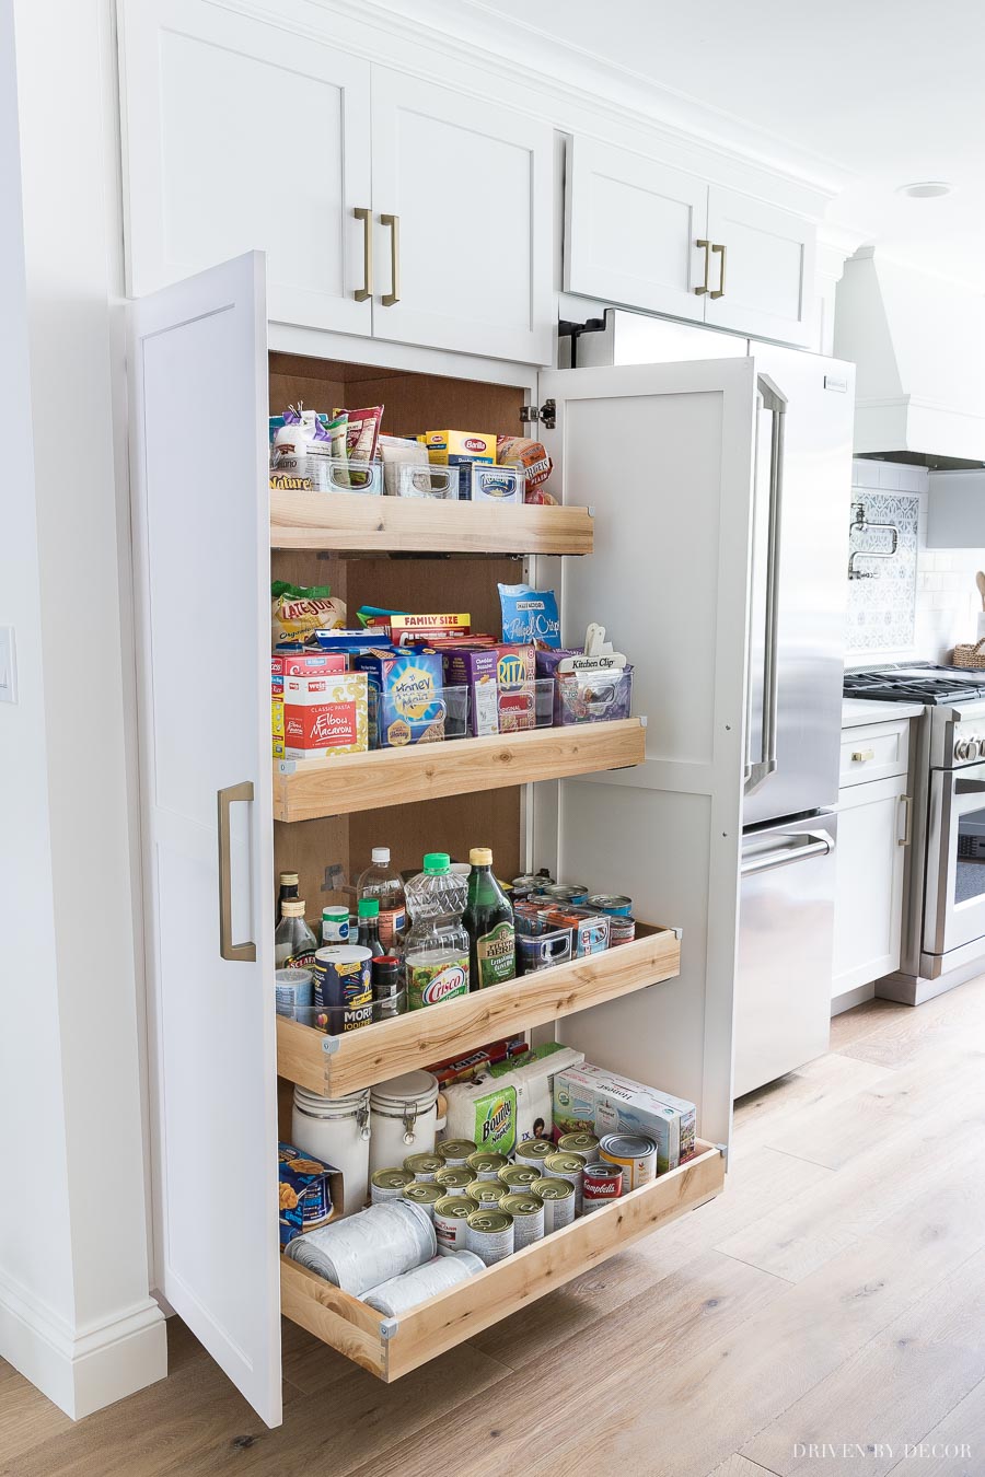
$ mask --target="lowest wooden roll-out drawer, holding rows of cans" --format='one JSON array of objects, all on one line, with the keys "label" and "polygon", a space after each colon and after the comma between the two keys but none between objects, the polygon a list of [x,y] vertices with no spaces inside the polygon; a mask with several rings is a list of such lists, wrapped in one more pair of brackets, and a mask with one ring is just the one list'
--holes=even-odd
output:
[{"label": "lowest wooden roll-out drawer, holding rows of cans", "polygon": [[281,1258],[281,1307],[294,1323],[388,1382],[712,1199],[724,1185],[721,1151],[699,1139],[697,1154],[679,1168],[535,1241],[400,1317],[384,1317],[286,1257]]}]

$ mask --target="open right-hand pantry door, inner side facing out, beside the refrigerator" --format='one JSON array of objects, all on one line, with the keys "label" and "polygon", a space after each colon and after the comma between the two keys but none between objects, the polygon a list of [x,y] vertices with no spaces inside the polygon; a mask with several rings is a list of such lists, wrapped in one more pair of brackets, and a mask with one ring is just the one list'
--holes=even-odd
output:
[{"label": "open right-hand pantry door, inner side facing out, beside the refrigerator", "polygon": [[[563,780],[535,801],[540,864],[628,894],[684,929],[681,976],[563,1022],[591,1062],[731,1127],[756,380],[752,359],[545,372],[545,431],[566,502],[594,507],[595,552],[566,560],[561,629],[605,626],[647,718],[635,770]],[[551,790],[538,786],[538,790]],[[552,806],[557,805],[557,814]]]}]

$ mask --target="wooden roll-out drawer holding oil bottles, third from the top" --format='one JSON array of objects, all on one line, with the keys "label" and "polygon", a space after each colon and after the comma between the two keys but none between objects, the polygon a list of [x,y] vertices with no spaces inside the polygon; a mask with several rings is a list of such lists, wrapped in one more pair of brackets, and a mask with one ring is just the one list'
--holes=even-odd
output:
[{"label": "wooden roll-out drawer holding oil bottles, third from the top", "polygon": [[636,923],[631,944],[409,1010],[393,1021],[377,1021],[349,1035],[325,1035],[278,1016],[278,1075],[322,1097],[343,1097],[413,1068],[465,1056],[498,1037],[673,979],[679,972],[675,931]]}]

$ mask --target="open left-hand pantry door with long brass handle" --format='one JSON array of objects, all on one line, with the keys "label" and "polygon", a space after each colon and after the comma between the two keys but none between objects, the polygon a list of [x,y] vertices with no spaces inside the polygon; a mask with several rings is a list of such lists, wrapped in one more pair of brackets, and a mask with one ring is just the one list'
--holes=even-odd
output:
[{"label": "open left-hand pantry door with long brass handle", "polygon": [[158,1288],[281,1421],[263,257],[133,304]]}]

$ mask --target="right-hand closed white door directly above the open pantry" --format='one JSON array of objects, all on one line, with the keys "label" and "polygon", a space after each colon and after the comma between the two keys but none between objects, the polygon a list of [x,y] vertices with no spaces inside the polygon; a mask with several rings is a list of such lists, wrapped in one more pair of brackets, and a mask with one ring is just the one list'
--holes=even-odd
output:
[{"label": "right-hand closed white door directly above the open pantry", "polygon": [[375,66],[372,193],[374,337],[554,357],[546,124]]}]

